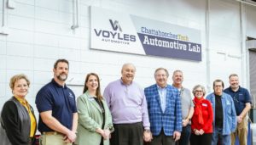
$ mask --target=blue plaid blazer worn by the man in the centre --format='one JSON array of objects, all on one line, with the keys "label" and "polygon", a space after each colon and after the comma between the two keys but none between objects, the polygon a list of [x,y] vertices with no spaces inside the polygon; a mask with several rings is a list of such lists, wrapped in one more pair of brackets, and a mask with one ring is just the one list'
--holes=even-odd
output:
[{"label": "blue plaid blazer worn by the man in the centre", "polygon": [[156,84],[144,89],[148,103],[150,131],[158,136],[165,131],[166,136],[172,136],[174,131],[182,131],[182,110],[179,92],[176,87],[166,86],[166,110],[160,106],[160,95]]}]

